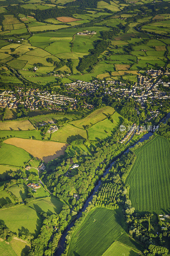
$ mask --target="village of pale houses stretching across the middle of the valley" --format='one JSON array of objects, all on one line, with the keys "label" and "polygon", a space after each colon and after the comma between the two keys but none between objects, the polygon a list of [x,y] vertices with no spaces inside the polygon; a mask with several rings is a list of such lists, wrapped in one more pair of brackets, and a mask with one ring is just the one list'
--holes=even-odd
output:
[{"label": "village of pale houses stretching across the middle of the valley", "polygon": [[[63,111],[67,107],[70,110],[76,110],[79,103],[73,96],[89,96],[93,97],[97,90],[102,89],[103,94],[112,95],[113,98],[120,100],[122,98],[132,98],[141,103],[141,107],[145,108],[145,104],[156,99],[169,99],[170,96],[166,91],[161,91],[160,87],[168,88],[170,82],[162,81],[162,76],[169,76],[170,72],[162,70],[148,70],[138,75],[137,82],[129,86],[127,83],[114,80],[93,80],[92,82],[84,82],[76,80],[72,83],[66,83],[67,95],[57,94],[55,92],[39,91],[39,89],[28,89],[17,87],[16,91],[2,91],[0,93],[0,108],[18,108],[19,104],[24,104],[28,110],[37,110],[46,108],[48,110]],[[83,100],[82,109],[93,109],[94,106]],[[136,109],[138,111],[138,109]],[[159,111],[153,111],[152,118],[156,117]],[[148,117],[147,121],[151,118]]]}]

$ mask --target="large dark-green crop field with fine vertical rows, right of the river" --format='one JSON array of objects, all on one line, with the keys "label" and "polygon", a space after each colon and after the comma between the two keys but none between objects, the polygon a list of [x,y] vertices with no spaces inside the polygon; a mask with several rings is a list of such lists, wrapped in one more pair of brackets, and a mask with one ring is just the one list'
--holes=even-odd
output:
[{"label": "large dark-green crop field with fine vertical rows, right of the river", "polygon": [[137,158],[126,184],[130,185],[129,197],[136,210],[169,210],[169,150],[169,140],[158,135],[135,150]]}]

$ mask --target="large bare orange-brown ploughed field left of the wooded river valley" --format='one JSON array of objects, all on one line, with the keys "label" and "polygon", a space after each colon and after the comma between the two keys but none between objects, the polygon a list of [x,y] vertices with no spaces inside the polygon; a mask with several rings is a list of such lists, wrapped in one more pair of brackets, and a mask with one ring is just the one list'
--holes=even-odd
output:
[{"label": "large bare orange-brown ploughed field left of the wooded river valley", "polygon": [[45,163],[58,156],[64,155],[67,144],[46,140],[31,140],[21,138],[10,138],[4,140],[4,143],[23,148],[31,155],[42,159]]}]

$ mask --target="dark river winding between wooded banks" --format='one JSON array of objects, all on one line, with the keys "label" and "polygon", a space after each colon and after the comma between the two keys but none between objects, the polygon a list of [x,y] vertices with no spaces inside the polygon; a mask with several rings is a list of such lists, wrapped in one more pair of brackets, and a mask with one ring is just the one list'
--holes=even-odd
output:
[{"label": "dark river winding between wooded banks", "polygon": [[[168,119],[168,118],[170,118],[170,112],[166,115],[165,120],[164,120],[164,118],[162,118],[162,119],[160,120],[160,122],[163,121],[163,122],[165,123],[165,122],[166,122],[166,119]],[[159,123],[160,123],[160,122],[159,122]],[[149,137],[151,137],[151,135],[153,135],[152,132],[148,132],[148,133],[144,134],[143,137],[142,137],[141,139],[139,139],[136,143],[138,143],[139,141],[140,141],[140,142],[143,142],[144,140],[148,140]],[[135,144],[136,144],[136,143],[135,143]],[[129,147],[129,148],[133,148],[133,147],[135,146],[135,144],[134,144],[133,146]],[[112,165],[114,164],[114,162],[115,162],[118,158],[120,158],[123,154],[128,153],[129,148],[128,148],[126,151],[122,152],[121,155],[119,155],[119,156],[117,156],[117,157],[114,158],[114,161],[113,161],[113,162],[110,164],[110,166],[105,170],[105,172],[104,172],[104,174],[103,174],[102,177],[104,177],[104,176],[109,172],[110,168],[112,167]],[[100,177],[99,181],[97,181],[97,183],[95,184],[95,188],[91,191],[91,193],[90,193],[90,195],[88,196],[86,202],[84,203],[83,208],[82,208],[82,209],[80,210],[80,212],[77,214],[76,219],[73,220],[73,221],[67,226],[67,228],[63,231],[62,236],[61,236],[61,238],[60,238],[60,240],[59,240],[59,244],[58,244],[59,247],[58,247],[58,249],[57,249],[57,251],[56,251],[56,253],[55,253],[55,256],[60,256],[61,253],[64,252],[64,249],[65,249],[64,244],[65,244],[65,241],[66,241],[67,232],[70,230],[70,228],[72,228],[72,227],[74,226],[75,221],[80,218],[81,213],[85,211],[85,209],[86,209],[86,207],[88,206],[89,202],[92,200],[93,196],[95,195],[95,193],[97,192],[98,188],[100,187],[101,178],[102,178],[102,177]]]}]

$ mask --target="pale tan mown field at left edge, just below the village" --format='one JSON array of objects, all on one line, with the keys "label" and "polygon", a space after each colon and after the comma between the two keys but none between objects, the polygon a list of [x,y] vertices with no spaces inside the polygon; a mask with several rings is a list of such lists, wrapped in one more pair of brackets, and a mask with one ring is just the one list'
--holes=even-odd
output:
[{"label": "pale tan mown field at left edge, just below the village", "polygon": [[0,122],[0,130],[34,130],[35,127],[29,122],[29,120]]}]

